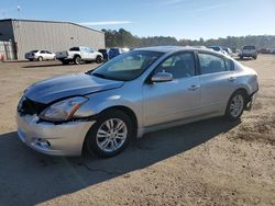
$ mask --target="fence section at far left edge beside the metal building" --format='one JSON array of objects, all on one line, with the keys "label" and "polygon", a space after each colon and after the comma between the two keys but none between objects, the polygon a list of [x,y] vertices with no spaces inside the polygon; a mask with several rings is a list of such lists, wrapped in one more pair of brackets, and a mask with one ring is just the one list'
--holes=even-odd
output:
[{"label": "fence section at far left edge beside the metal building", "polygon": [[13,42],[0,42],[0,61],[15,60],[16,45]]}]

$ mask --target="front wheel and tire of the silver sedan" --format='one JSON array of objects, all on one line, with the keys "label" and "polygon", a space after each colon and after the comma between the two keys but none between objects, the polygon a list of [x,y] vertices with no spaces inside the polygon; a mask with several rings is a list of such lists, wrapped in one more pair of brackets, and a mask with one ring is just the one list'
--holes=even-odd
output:
[{"label": "front wheel and tire of the silver sedan", "polygon": [[[116,131],[117,127],[120,129]],[[133,135],[134,128],[130,116],[119,110],[111,110],[100,115],[89,129],[85,147],[90,154],[110,158],[125,149]]]}]

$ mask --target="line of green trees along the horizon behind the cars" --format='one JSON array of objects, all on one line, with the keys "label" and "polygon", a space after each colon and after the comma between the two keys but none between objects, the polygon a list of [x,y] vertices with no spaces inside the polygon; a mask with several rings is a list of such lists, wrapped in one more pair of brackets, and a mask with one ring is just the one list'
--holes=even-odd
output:
[{"label": "line of green trees along the horizon behind the cars", "polygon": [[210,38],[199,41],[176,39],[172,36],[151,36],[139,37],[131,32],[120,30],[102,30],[106,35],[106,47],[145,47],[160,45],[175,46],[210,46],[220,45],[229,48],[242,48],[244,45],[254,45],[256,48],[275,48],[275,35],[249,35],[249,36],[228,36],[226,38]]}]

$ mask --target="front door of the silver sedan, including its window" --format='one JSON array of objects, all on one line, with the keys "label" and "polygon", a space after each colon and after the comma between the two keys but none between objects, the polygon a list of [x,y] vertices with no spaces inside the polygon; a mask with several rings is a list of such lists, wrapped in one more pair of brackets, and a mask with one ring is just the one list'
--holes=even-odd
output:
[{"label": "front door of the silver sedan, including its window", "polygon": [[172,55],[153,75],[162,71],[172,73],[173,81],[143,85],[144,126],[188,118],[199,112],[200,85],[194,53]]}]

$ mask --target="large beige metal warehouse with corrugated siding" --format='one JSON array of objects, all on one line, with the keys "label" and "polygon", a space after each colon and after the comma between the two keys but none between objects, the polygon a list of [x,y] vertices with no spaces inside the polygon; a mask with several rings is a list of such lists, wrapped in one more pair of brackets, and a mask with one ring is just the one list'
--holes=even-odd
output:
[{"label": "large beige metal warehouse with corrugated siding", "polygon": [[24,54],[34,49],[53,53],[73,46],[105,48],[105,33],[70,22],[36,20],[0,20],[0,41],[14,45],[14,56],[24,59]]}]

